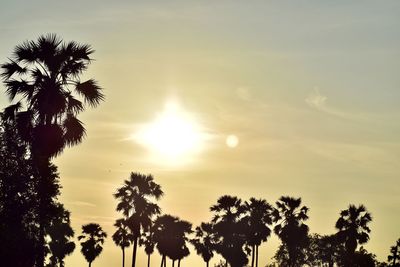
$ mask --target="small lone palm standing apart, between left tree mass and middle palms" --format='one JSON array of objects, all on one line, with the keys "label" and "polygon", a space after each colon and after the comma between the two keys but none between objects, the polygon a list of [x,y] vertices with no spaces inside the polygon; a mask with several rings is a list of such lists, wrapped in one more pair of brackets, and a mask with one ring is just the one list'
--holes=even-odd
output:
[{"label": "small lone palm standing apart, between left tree mass and middle palms", "polygon": [[82,235],[78,236],[78,240],[83,239],[81,242],[81,252],[87,262],[89,262],[89,267],[103,251],[102,245],[106,237],[107,234],[97,223],[89,223],[82,226]]}]

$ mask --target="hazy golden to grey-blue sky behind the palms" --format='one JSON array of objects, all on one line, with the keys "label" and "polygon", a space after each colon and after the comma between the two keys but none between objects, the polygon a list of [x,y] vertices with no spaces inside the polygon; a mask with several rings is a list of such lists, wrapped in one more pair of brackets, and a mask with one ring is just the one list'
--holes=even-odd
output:
[{"label": "hazy golden to grey-blue sky behind the palms", "polygon": [[[2,0],[0,62],[46,33],[96,50],[82,79],[95,78],[106,100],[81,115],[84,142],[55,160],[77,235],[89,222],[112,235],[112,194],[133,171],[153,174],[163,212],[194,225],[223,194],[301,197],[320,234],[364,204],[365,247],[386,260],[400,237],[399,18],[396,0]],[[138,138],[170,103],[197,140],[172,160]],[[262,246],[260,266],[278,245],[272,236]],[[120,263],[108,238],[93,265]],[[182,264],[204,265],[193,250]],[[85,265],[78,245],[66,266]]]}]

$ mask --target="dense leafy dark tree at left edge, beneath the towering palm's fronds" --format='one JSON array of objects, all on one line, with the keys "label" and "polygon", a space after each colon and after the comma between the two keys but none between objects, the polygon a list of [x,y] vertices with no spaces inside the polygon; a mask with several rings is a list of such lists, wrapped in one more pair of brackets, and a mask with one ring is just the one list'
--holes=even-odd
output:
[{"label": "dense leafy dark tree at left edge, beneath the towering palm's fronds", "polygon": [[36,191],[29,149],[15,122],[0,116],[0,258],[4,266],[35,263]]}]

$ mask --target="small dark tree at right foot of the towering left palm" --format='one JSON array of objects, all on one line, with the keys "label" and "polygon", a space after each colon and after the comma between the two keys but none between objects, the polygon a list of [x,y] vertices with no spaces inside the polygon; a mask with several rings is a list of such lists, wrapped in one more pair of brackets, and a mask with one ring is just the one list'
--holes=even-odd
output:
[{"label": "small dark tree at right foot of the towering left palm", "polygon": [[57,216],[52,219],[47,229],[50,237],[48,243],[50,266],[64,267],[64,258],[75,250],[75,243],[70,239],[74,237],[74,231],[70,225],[70,212],[64,209],[62,204],[57,206]]}]

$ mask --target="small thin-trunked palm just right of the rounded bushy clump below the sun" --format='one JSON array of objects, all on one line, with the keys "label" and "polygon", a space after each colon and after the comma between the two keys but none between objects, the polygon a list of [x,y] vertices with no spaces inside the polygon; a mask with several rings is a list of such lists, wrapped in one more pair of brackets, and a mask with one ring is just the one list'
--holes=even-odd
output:
[{"label": "small thin-trunked palm just right of the rounded bushy clump below the sun", "polygon": [[208,267],[211,258],[214,256],[214,241],[213,241],[213,225],[212,223],[201,223],[196,227],[195,238],[190,240],[197,254],[201,255],[206,267]]}]

